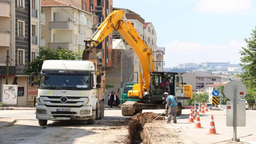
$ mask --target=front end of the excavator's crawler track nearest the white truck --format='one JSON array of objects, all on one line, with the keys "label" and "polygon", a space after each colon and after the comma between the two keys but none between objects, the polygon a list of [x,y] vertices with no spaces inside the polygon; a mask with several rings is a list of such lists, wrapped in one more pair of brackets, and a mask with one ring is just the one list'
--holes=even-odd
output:
[{"label": "front end of the excavator's crawler track nearest the white truck", "polygon": [[126,101],[122,104],[122,115],[123,116],[133,116],[136,109],[136,103],[134,101]]}]

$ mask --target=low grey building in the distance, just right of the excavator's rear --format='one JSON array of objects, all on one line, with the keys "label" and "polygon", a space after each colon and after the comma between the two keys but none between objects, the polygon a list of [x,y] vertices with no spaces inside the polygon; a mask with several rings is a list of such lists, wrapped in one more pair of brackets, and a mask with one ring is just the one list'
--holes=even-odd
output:
[{"label": "low grey building in the distance, just right of the excavator's rear", "polygon": [[221,77],[208,72],[188,72],[183,74],[183,82],[192,85],[193,91],[196,91],[207,85],[221,82]]}]

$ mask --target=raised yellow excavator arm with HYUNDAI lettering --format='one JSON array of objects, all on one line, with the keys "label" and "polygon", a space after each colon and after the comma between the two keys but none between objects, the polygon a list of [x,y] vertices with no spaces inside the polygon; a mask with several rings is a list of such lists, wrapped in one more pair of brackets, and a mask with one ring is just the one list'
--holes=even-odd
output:
[{"label": "raised yellow excavator arm with HYUNDAI lettering", "polygon": [[144,91],[149,90],[150,74],[155,71],[153,54],[146,42],[141,38],[141,36],[139,36],[131,22],[126,19],[124,14],[125,13],[122,10],[113,11],[106,17],[103,23],[101,23],[95,33],[93,33],[92,37],[85,40],[83,59],[88,59],[90,53],[96,48],[96,46],[113,30],[117,30],[139,57],[145,80],[145,86],[143,86],[142,75],[140,74],[139,96],[142,97],[142,88],[144,88]]}]

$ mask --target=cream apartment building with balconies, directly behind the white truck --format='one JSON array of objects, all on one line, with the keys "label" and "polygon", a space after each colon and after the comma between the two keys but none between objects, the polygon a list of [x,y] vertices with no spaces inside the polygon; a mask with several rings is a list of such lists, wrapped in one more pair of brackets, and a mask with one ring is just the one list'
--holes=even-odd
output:
[{"label": "cream apartment building with balconies, directly behind the white truck", "polygon": [[41,27],[45,47],[85,49],[84,39],[92,35],[91,13],[79,9],[78,5],[55,0],[41,0],[41,11],[45,14],[45,25]]}]

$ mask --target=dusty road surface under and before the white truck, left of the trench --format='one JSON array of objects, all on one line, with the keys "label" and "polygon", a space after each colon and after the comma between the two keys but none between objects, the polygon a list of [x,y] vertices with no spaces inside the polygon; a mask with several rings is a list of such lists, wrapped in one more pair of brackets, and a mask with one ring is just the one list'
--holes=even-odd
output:
[{"label": "dusty road surface under and before the white truck, left of the trench", "polygon": [[[14,125],[0,129],[0,144],[6,143],[86,143],[107,144],[127,135],[125,121],[120,110],[105,110],[103,120],[98,125],[83,122],[48,121],[46,127],[40,127],[35,119],[35,110],[2,110],[0,117],[12,117],[17,120]],[[117,125],[116,125],[117,124]],[[117,130],[113,129],[120,127]]]}]

